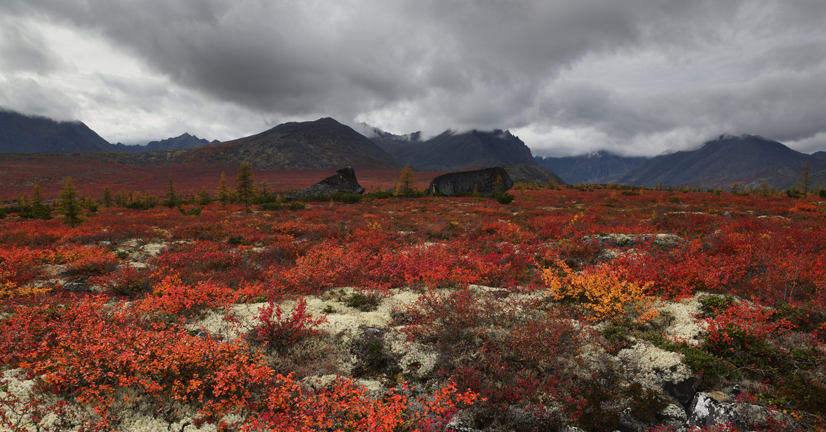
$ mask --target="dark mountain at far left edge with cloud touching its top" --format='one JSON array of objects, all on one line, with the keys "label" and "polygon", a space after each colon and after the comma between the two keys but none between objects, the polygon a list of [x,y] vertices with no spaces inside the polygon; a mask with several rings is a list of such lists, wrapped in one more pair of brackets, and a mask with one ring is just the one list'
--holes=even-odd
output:
[{"label": "dark mountain at far left edge with cloud touching its top", "polygon": [[0,110],[0,153],[73,151],[112,151],[112,145],[80,121]]}]

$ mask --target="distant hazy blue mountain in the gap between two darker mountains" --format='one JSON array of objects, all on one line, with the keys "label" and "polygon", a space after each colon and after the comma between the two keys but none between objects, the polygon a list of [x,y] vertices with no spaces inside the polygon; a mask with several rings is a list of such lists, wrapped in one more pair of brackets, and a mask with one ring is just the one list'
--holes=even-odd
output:
[{"label": "distant hazy blue mountain in the gap between two darker mountains", "polygon": [[607,151],[581,156],[542,158],[535,156],[537,164],[557,173],[567,183],[614,183],[631,169],[643,164],[648,158],[625,157]]}]

